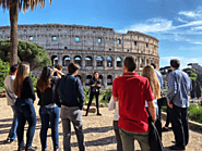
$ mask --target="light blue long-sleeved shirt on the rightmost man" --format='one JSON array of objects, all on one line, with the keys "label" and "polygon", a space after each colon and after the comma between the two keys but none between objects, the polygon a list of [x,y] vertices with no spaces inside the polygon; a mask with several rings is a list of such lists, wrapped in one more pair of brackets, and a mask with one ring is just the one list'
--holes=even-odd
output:
[{"label": "light blue long-sleeved shirt on the rightmost man", "polygon": [[189,91],[192,85],[188,74],[179,68],[174,70],[168,75],[168,93],[167,99],[179,108],[189,106]]}]

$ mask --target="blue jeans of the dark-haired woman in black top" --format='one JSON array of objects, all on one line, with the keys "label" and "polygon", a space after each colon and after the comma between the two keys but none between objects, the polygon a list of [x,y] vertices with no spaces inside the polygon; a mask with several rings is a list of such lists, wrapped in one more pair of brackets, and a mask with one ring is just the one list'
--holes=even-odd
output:
[{"label": "blue jeans of the dark-haired woman in black top", "polygon": [[54,149],[59,148],[59,131],[58,131],[58,125],[59,125],[59,117],[60,117],[60,108],[58,105],[56,108],[48,109],[46,106],[40,106],[39,109],[39,115],[41,121],[41,128],[40,128],[40,143],[41,149],[45,150],[47,148],[47,130],[49,127],[51,127],[51,138],[54,142]]}]

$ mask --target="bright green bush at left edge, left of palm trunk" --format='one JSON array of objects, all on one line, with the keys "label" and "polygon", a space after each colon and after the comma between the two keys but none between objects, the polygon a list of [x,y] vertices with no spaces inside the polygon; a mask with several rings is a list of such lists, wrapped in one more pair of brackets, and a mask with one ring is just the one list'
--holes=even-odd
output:
[{"label": "bright green bush at left edge, left of palm trunk", "polygon": [[4,87],[4,78],[9,75],[9,71],[10,64],[0,59],[0,87]]}]

